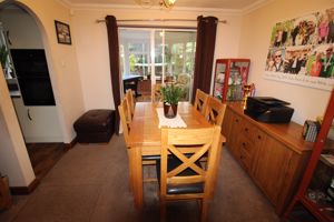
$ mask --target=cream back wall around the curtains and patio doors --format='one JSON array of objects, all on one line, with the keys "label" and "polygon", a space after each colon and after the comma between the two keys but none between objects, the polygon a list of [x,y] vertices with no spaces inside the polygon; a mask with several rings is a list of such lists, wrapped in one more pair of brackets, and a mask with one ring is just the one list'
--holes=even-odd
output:
[{"label": "cream back wall around the curtains and patio doors", "polygon": [[[97,19],[105,19],[107,14],[122,19],[191,19],[200,14],[214,16],[219,20],[227,20],[227,24],[219,23],[217,29],[215,58],[236,57],[240,36],[242,17],[230,12],[180,11],[173,9],[134,9],[73,7],[72,33],[76,47],[84,100],[86,110],[107,108],[115,109],[110,83],[110,68],[106,24],[97,23]],[[197,27],[197,22],[137,22],[137,24],[187,26]],[[120,24],[120,22],[119,22]],[[131,23],[134,24],[134,23]]]}]

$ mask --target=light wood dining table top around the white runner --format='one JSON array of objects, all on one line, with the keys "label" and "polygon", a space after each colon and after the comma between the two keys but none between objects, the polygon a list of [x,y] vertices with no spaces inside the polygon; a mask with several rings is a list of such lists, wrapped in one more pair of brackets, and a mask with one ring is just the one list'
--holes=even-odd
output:
[{"label": "light wood dining table top around the white runner", "polygon": [[[161,130],[159,129],[157,108],[163,108],[163,103],[136,103],[130,124],[129,147],[140,147],[143,155],[160,154]],[[177,113],[187,124],[187,129],[212,127],[189,102],[179,102]]]}]

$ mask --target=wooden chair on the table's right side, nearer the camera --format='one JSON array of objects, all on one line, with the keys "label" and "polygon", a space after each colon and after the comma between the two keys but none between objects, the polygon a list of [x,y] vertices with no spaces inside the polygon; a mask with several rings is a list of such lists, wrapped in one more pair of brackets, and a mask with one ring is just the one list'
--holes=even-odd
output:
[{"label": "wooden chair on the table's right side, nearer the camera", "polygon": [[207,105],[204,112],[205,119],[212,123],[222,127],[226,110],[226,104],[214,97],[208,98]]}]

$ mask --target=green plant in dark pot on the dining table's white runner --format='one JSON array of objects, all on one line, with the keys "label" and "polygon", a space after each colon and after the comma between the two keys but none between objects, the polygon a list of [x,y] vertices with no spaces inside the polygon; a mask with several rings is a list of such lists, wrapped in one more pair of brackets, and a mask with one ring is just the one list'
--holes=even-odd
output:
[{"label": "green plant in dark pot on the dining table's white runner", "polygon": [[160,89],[164,100],[164,114],[166,118],[175,118],[177,114],[177,104],[183,95],[183,89],[174,84],[163,85]]}]

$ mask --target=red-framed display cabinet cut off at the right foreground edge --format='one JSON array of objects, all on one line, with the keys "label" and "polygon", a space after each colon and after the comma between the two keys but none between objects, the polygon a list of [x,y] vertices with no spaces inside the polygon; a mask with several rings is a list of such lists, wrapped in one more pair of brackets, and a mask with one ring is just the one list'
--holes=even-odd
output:
[{"label": "red-framed display cabinet cut off at the right foreground edge", "polygon": [[334,90],[299,189],[283,221],[334,221]]}]

